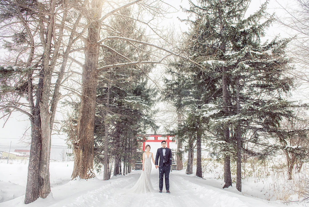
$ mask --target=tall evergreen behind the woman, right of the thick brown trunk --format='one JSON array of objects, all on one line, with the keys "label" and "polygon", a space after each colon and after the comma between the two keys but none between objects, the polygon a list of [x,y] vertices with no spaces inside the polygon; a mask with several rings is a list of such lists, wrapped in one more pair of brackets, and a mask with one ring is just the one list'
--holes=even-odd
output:
[{"label": "tall evergreen behind the woman, right of the thick brown trunk", "polygon": [[[114,30],[109,31],[107,35],[119,35],[146,41],[144,31],[137,28],[136,22],[129,18],[130,9],[120,12],[122,16],[112,19],[110,25]],[[140,53],[136,53],[134,50],[136,45],[126,41],[108,40],[104,42],[104,45],[101,50],[103,58],[100,59],[99,64],[111,65],[127,60],[146,61],[149,59],[150,51],[145,45],[139,45],[143,51]],[[95,126],[108,121],[109,129],[104,127],[103,130],[101,127],[95,127],[95,142],[100,142],[101,138],[101,136],[97,136],[97,132],[99,134],[108,133],[108,137],[111,138],[110,141],[114,147],[110,152],[115,159],[113,175],[121,174],[121,157],[123,157],[124,163],[128,163],[128,160],[131,159],[131,152],[136,151],[137,135],[144,134],[148,127],[157,128],[151,118],[153,113],[151,106],[155,103],[154,98],[157,92],[149,88],[145,80],[146,74],[152,67],[152,65],[113,67],[104,71],[100,76],[102,79],[100,78],[97,87]],[[105,149],[107,149],[106,147]],[[95,163],[99,162],[99,159],[95,160]]]}]

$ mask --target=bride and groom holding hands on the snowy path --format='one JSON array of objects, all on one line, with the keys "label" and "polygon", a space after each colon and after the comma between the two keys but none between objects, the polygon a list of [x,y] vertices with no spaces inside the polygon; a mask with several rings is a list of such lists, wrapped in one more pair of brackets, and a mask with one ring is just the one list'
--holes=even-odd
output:
[{"label": "bride and groom holding hands on the snowy path", "polygon": [[155,164],[155,168],[159,167],[159,192],[163,190],[163,177],[165,177],[165,189],[167,193],[170,193],[169,176],[172,165],[172,152],[171,149],[166,147],[166,141],[161,142],[162,148],[157,150],[155,160],[153,153],[150,152],[150,145],[146,145],[146,152],[143,153],[143,168],[142,174],[138,181],[131,188],[132,192],[146,193],[154,192],[150,181],[151,161]]}]

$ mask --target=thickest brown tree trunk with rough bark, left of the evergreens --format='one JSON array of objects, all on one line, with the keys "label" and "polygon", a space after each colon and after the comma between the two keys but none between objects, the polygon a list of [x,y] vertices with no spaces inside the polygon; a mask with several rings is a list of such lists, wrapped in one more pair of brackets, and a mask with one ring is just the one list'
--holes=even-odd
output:
[{"label": "thickest brown tree trunk with rough bark, left of the evergreens", "polygon": [[98,57],[101,17],[101,1],[91,1],[88,17],[88,37],[85,40],[85,63],[82,72],[82,93],[77,124],[77,153],[74,156],[72,179],[95,177],[93,170],[94,117],[96,87],[98,81]]}]

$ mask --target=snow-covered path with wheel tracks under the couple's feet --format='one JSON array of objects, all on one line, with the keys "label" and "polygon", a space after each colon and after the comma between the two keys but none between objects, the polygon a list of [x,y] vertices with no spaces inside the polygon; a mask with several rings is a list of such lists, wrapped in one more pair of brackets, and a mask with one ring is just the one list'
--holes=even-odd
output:
[{"label": "snow-covered path with wheel tracks under the couple's feet", "polygon": [[[66,199],[60,203],[54,203],[50,206],[283,206],[272,204],[261,199],[245,197],[233,192],[227,192],[223,189],[206,185],[203,179],[196,176],[183,175],[184,172],[172,172],[170,174],[171,194],[147,193],[134,194],[128,193],[127,189],[131,188],[138,180],[141,171],[133,171],[131,175],[117,176],[99,188],[92,189],[87,193],[77,196],[74,201]],[[158,171],[154,168],[151,172],[151,181],[155,189],[158,189]]]}]

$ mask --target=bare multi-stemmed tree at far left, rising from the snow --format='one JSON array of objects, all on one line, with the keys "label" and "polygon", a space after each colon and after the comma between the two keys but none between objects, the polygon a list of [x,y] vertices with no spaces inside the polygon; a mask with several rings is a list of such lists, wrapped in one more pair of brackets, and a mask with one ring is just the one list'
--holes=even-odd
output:
[{"label": "bare multi-stemmed tree at far left, rising from the snow", "polygon": [[2,40],[10,51],[2,61],[6,67],[0,71],[2,87],[6,88],[1,93],[1,118],[8,119],[19,111],[31,121],[26,204],[50,192],[51,132],[66,63],[74,41],[79,39],[76,30],[80,17],[73,23],[68,17],[72,8],[65,0],[1,2]]}]

